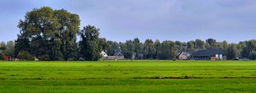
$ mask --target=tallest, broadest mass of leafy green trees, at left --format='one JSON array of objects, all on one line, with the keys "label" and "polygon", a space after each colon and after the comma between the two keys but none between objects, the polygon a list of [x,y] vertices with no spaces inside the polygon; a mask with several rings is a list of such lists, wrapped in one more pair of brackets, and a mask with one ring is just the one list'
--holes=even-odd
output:
[{"label": "tallest, broadest mass of leafy green trees, at left", "polygon": [[41,60],[74,58],[79,25],[79,16],[64,9],[34,8],[18,23],[20,34],[16,40],[15,55],[26,49],[22,46],[22,42],[26,42],[29,44],[26,51]]}]

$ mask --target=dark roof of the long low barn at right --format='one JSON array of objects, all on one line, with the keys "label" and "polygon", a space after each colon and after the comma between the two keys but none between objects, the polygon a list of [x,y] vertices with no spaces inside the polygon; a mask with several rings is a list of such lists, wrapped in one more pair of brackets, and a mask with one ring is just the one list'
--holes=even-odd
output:
[{"label": "dark roof of the long low barn at right", "polygon": [[224,54],[220,49],[201,49],[193,52],[193,56],[213,56],[215,54]]}]

